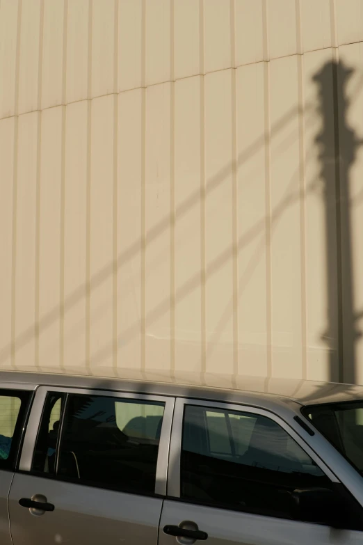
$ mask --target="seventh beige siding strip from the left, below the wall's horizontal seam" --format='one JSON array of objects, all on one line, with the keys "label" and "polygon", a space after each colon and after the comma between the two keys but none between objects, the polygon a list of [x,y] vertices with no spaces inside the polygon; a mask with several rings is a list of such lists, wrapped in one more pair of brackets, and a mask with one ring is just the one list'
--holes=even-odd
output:
[{"label": "seventh beige siding strip from the left, below the wall's horizontal seam", "polygon": [[145,135],[145,368],[170,367],[171,259],[170,132],[174,84],[146,92]]}]

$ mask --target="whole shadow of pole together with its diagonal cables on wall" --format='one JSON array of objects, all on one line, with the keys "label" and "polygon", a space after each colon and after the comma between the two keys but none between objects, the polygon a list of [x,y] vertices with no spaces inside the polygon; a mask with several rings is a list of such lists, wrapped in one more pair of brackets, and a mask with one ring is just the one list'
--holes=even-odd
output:
[{"label": "whole shadow of pole together with its diagonal cables on wall", "polygon": [[[355,375],[355,345],[359,333],[357,331],[357,320],[363,313],[355,313],[354,294],[353,294],[353,256],[351,249],[351,233],[350,233],[350,204],[349,204],[349,176],[350,169],[353,166],[357,150],[362,144],[362,141],[357,138],[354,130],[349,127],[347,121],[347,112],[354,96],[357,94],[357,89],[353,96],[346,92],[348,81],[353,73],[353,70],[347,68],[343,63],[326,63],[321,70],[314,75],[314,82],[318,89],[318,109],[312,107],[312,104],[305,104],[303,111],[298,107],[288,111],[280,120],[271,127],[269,134],[262,134],[256,141],[252,142],[248,148],[245,148],[236,160],[236,168],[239,168],[246,160],[250,159],[258,150],[260,150],[268,139],[270,141],[284,127],[291,123],[291,120],[296,119],[296,116],[303,113],[305,125],[310,123],[313,116],[321,118],[322,129],[316,135],[315,144],[318,150],[318,160],[321,164],[318,175],[319,180],[323,184],[323,200],[325,206],[325,224],[326,224],[326,261],[327,261],[327,278],[326,289],[328,294],[327,308],[327,329],[323,334],[323,338],[327,342],[330,354],[330,380],[332,381],[348,381],[354,383]],[[358,89],[359,90],[359,89]],[[305,158],[309,160],[309,153]],[[297,166],[296,176],[298,176],[300,166]],[[204,192],[206,199],[211,192],[214,191],[225,180],[226,175],[229,175],[231,165],[225,165],[216,175],[207,181],[207,186]],[[318,181],[312,180],[304,191],[300,188],[296,189],[296,176],[291,178],[289,189],[284,194],[280,202],[271,211],[270,216],[263,218],[255,223],[247,232],[244,232],[237,241],[237,247],[229,246],[209,264],[205,276],[213,276],[225,262],[232,259],[234,250],[242,252],[243,248],[252,241],[259,242],[257,251],[252,256],[245,274],[239,279],[239,292],[248,286],[249,278],[255,271],[257,262],[264,252],[266,242],[266,223],[271,225],[271,235],[273,236],[273,228],[275,224],[283,216],[284,212],[295,203],[296,200],[304,200],[308,193],[316,192],[318,189]],[[252,180],[253,182],[253,180]],[[147,246],[161,233],[170,226],[170,221],[175,221],[175,217],[180,219],[185,216],[193,207],[200,206],[201,200],[200,187],[195,188],[195,192],[191,194],[181,205],[177,207],[175,214],[170,214],[161,218],[159,223],[147,233],[145,240],[138,241],[118,255],[115,262],[111,262],[104,269],[99,270],[95,276],[90,279],[87,288],[88,297],[92,290],[97,289],[107,279],[121,269],[133,256],[140,251],[140,248]],[[191,277],[182,285],[175,294],[175,302],[184,299],[189,293],[200,285],[200,273]],[[0,365],[7,361],[10,354],[15,354],[17,349],[23,347],[30,342],[35,332],[46,331],[47,328],[59,318],[62,313],[67,313],[77,302],[85,297],[85,287],[81,286],[75,290],[70,297],[64,301],[63,308],[57,306],[51,310],[45,317],[42,317],[39,323],[31,324],[29,329],[22,331],[17,335],[12,345],[0,347]],[[154,320],[166,313],[170,308],[170,297],[159,302],[159,304],[150,311],[145,317],[144,327],[150,326]],[[232,313],[232,302],[226,301],[225,312],[221,313],[220,324],[218,331],[215,332],[216,342],[223,330],[225,320],[230,318]],[[113,343],[108,346],[100,347],[99,352],[92,357],[92,361],[85,363],[85,370],[90,370],[91,365],[102,363],[102,360],[113,353],[115,342],[118,347],[126,345],[136,332],[140,331],[140,323],[130,324],[129,329],[122,333],[122,338],[114,339]],[[16,360],[15,360],[16,363]],[[15,365],[16,367],[16,365]],[[204,370],[205,372],[205,370]]]}]

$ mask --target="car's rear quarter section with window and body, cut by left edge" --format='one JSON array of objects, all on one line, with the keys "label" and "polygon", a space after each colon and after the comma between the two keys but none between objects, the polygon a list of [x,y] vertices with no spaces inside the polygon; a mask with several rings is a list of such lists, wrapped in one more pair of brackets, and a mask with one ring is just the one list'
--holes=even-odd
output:
[{"label": "car's rear quarter section with window and body, cut by left edge", "polygon": [[[31,388],[31,387],[29,387]],[[0,543],[11,545],[8,495],[31,390],[16,384],[0,384]]]}]

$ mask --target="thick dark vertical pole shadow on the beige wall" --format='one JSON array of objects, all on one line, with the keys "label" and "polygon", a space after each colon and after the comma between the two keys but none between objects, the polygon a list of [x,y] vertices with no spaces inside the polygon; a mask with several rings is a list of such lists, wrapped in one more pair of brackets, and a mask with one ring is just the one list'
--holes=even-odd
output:
[{"label": "thick dark vertical pole shadow on the beige wall", "polygon": [[344,63],[326,63],[314,75],[322,129],[316,135],[325,207],[327,329],[330,380],[355,384],[355,345],[360,314],[355,314],[350,219],[350,170],[362,140],[348,125],[347,86],[354,70]]}]

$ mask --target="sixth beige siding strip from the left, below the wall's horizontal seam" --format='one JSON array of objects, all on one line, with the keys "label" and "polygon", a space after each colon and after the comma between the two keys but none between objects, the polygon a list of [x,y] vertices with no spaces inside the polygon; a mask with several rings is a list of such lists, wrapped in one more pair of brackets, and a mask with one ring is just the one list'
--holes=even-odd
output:
[{"label": "sixth beige siding strip from the left, below the wall's horizontal seam", "polygon": [[[142,343],[142,264],[145,242],[143,182],[145,158],[145,91],[131,90],[118,97],[117,188],[117,342],[118,366],[140,368]],[[131,331],[130,331],[131,328]]]}]

